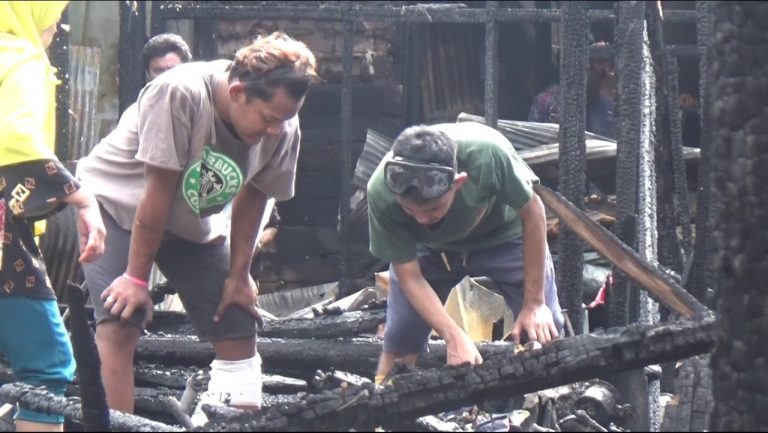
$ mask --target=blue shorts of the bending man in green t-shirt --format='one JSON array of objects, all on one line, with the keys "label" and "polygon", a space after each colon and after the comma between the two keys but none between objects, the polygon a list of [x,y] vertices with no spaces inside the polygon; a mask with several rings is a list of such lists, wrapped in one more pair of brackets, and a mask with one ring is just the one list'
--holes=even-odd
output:
[{"label": "blue shorts of the bending man in green t-shirt", "polygon": [[[443,262],[440,252],[419,248],[418,254],[421,273],[441,302],[445,303],[451,289],[464,277],[488,277],[515,313],[515,317],[520,313],[523,305],[523,244],[521,240],[503,242],[466,253],[445,252],[450,270]],[[552,311],[555,327],[560,335],[563,335],[564,318],[557,299],[555,268],[549,250],[547,250],[544,272],[544,298],[547,307]],[[384,351],[396,354],[423,352],[431,332],[432,328],[421,318],[400,289],[400,282],[390,265]]]}]

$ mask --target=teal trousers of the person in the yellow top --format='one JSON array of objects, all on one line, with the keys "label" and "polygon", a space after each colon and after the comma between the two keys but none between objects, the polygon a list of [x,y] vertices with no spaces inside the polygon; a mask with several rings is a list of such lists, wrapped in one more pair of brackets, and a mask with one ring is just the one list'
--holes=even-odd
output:
[{"label": "teal trousers of the person in the yellow top", "polygon": [[[0,297],[0,352],[16,380],[64,395],[75,376],[72,345],[55,300]],[[61,424],[64,417],[20,408],[16,419]]]}]

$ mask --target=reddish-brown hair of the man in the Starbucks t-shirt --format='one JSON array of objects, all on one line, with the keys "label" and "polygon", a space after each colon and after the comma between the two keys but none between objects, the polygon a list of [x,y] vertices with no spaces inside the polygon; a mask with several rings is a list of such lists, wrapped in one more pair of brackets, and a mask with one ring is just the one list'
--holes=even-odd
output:
[{"label": "reddish-brown hair of the man in the Starbucks t-shirt", "polygon": [[248,102],[253,98],[270,101],[281,87],[298,100],[310,83],[319,80],[315,68],[315,55],[303,42],[274,32],[237,51],[229,82],[243,83]]}]

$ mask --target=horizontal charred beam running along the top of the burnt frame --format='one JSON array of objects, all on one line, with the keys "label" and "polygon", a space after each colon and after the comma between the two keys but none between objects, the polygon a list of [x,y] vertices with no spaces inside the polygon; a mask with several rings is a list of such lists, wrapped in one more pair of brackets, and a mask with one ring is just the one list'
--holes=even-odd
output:
[{"label": "horizontal charred beam running along the top of the burnt frame", "polygon": [[[418,4],[412,6],[352,7],[349,12],[344,6],[323,5],[321,7],[283,6],[269,2],[254,3],[253,6],[217,5],[215,2],[165,2],[160,9],[163,19],[203,18],[227,19],[305,19],[313,21],[342,21],[346,14],[353,20],[387,20],[411,23],[485,23],[491,20],[506,22],[557,22],[559,9],[507,9],[489,12],[478,8],[467,8],[463,4]],[[668,22],[694,22],[694,11],[664,11]],[[611,22],[611,11],[589,11],[590,21]]]}]

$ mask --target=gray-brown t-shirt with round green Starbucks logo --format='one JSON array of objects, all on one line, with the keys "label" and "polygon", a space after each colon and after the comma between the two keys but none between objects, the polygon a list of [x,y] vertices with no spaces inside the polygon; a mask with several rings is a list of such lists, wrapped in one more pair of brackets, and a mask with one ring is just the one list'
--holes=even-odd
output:
[{"label": "gray-brown t-shirt with round green Starbucks logo", "polygon": [[293,197],[298,115],[258,144],[237,139],[213,102],[214,75],[230,64],[193,62],[165,72],[78,164],[78,177],[122,228],[132,228],[144,193],[144,164],[181,172],[166,229],[194,242],[228,235],[222,211],[246,182],[278,201]]}]

